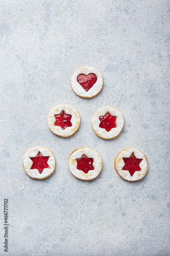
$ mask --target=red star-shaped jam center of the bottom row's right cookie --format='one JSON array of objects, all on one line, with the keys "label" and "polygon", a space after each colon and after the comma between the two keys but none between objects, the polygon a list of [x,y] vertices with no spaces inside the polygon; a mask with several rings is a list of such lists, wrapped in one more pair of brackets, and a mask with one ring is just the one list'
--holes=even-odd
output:
[{"label": "red star-shaped jam center of the bottom row's right cookie", "polygon": [[125,162],[123,170],[129,170],[130,176],[132,177],[136,171],[140,171],[139,164],[143,159],[136,158],[134,152],[131,154],[130,157],[123,157],[123,160]]}]

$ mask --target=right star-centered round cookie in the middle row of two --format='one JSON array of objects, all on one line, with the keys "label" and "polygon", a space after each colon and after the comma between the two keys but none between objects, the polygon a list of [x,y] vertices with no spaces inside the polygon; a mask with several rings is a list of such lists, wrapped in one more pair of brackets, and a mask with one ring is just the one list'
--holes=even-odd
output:
[{"label": "right star-centered round cookie in the middle row of two", "polygon": [[94,113],[92,127],[99,137],[113,139],[122,132],[124,118],[117,109],[112,106],[104,106]]}]

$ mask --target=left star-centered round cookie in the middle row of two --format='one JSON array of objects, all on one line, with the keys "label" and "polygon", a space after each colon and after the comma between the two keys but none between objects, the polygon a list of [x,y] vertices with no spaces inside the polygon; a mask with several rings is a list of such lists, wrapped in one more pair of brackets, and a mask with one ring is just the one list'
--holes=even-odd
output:
[{"label": "left star-centered round cookie in the middle row of two", "polygon": [[48,127],[54,134],[68,137],[78,130],[80,115],[73,106],[61,104],[50,111],[47,122]]}]

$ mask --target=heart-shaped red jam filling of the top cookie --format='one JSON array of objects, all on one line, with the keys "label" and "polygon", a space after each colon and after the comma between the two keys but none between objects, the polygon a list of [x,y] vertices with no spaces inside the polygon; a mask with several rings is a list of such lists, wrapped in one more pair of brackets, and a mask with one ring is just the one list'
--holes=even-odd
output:
[{"label": "heart-shaped red jam filling of the top cookie", "polygon": [[80,85],[86,92],[88,92],[91,89],[96,80],[98,80],[98,78],[93,73],[90,73],[87,76],[85,74],[81,74],[77,78],[77,81],[80,83]]}]

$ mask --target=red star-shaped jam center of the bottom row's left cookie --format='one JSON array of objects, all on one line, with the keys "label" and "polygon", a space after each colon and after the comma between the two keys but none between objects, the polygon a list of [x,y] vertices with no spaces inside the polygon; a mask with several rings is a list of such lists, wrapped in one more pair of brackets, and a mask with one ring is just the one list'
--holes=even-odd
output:
[{"label": "red star-shaped jam center of the bottom row's left cookie", "polygon": [[31,169],[37,169],[40,174],[42,174],[44,168],[50,168],[47,164],[49,157],[42,156],[40,151],[38,151],[36,157],[30,157],[30,159],[33,161]]}]

